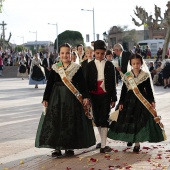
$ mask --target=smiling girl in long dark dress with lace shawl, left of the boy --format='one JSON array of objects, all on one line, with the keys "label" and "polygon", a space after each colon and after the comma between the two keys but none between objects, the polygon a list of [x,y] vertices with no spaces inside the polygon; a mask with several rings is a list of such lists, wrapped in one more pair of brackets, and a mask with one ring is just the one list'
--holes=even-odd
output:
[{"label": "smiling girl in long dark dress with lace shawl, left of the boy", "polygon": [[[74,155],[74,149],[88,148],[96,143],[92,121],[83,110],[83,105],[89,103],[89,94],[82,68],[71,62],[69,44],[60,46],[59,55],[61,62],[52,66],[47,81],[42,102],[47,111],[41,116],[35,142],[36,147],[55,149],[52,157],[61,156],[61,150],[65,150],[66,155]],[[82,94],[83,105],[62,81],[58,65]]]}]

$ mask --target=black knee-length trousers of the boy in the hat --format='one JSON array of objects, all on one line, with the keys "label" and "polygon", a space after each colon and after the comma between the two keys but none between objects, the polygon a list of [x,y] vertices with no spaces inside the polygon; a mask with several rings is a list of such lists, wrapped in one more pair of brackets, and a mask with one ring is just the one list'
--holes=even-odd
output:
[{"label": "black knee-length trousers of the boy in the hat", "polygon": [[94,123],[97,127],[109,127],[109,113],[111,110],[111,96],[107,93],[104,94],[90,94],[92,102],[92,110]]}]

